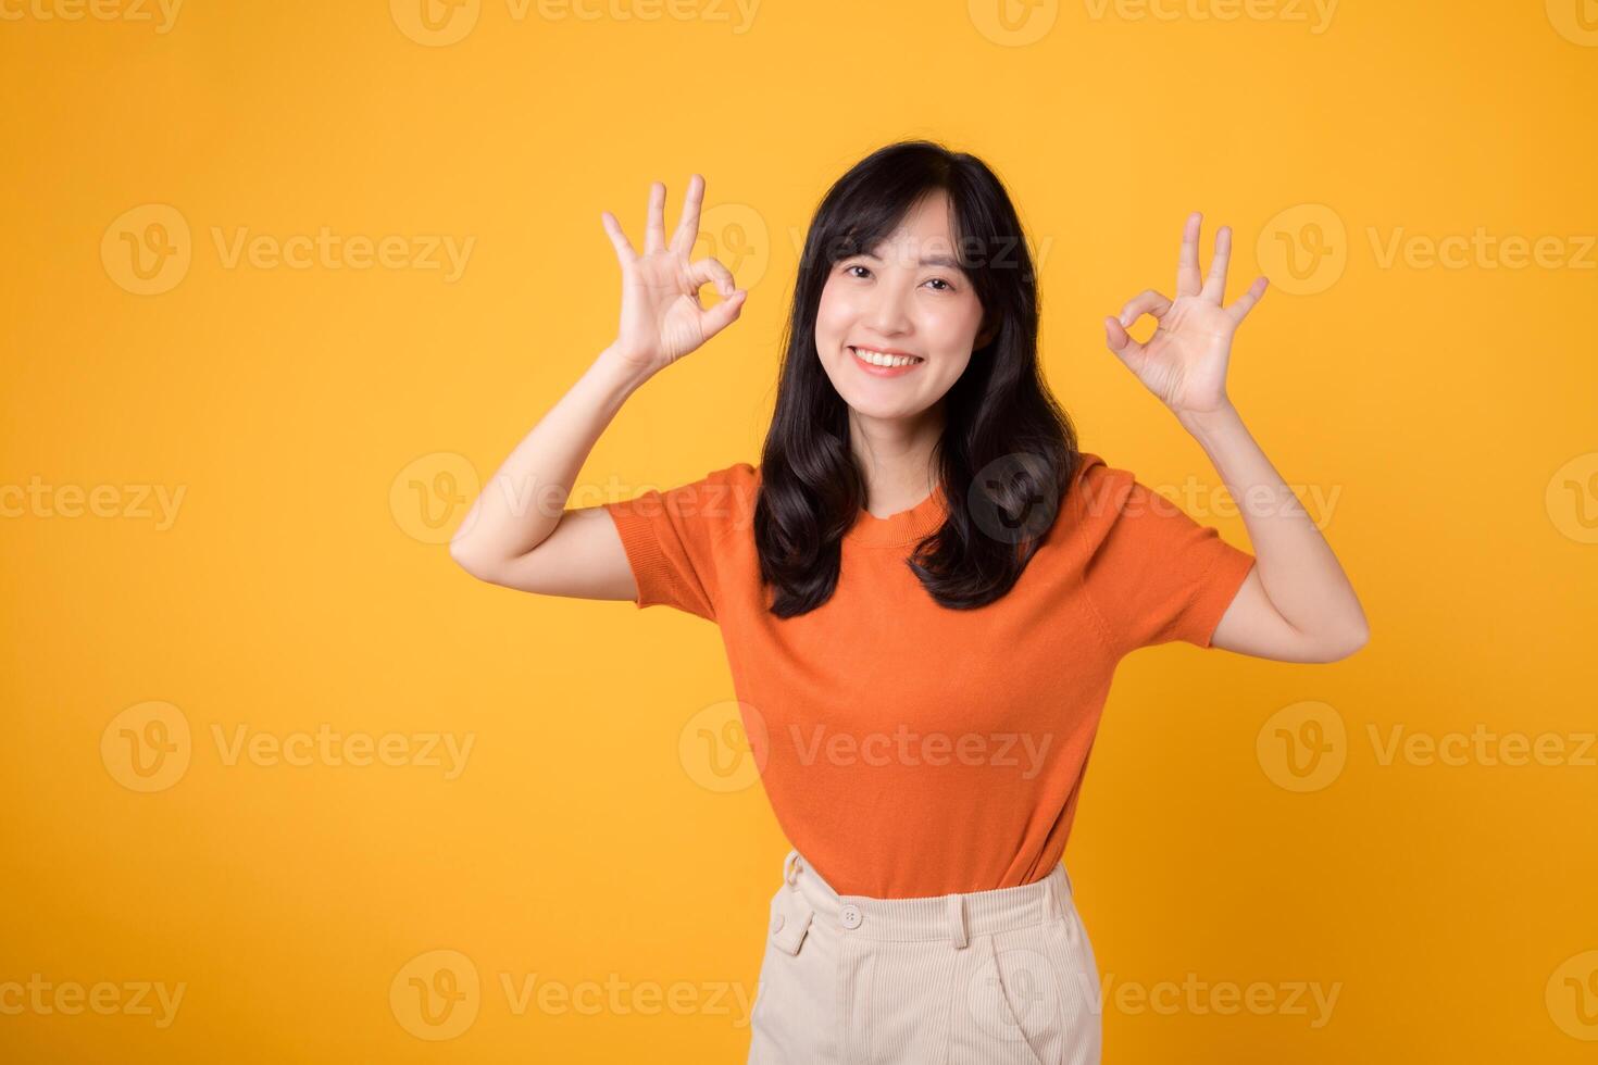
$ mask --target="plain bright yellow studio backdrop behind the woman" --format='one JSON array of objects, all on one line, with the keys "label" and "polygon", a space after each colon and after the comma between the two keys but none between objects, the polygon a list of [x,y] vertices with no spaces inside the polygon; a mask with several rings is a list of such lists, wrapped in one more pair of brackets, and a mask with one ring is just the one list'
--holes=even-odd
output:
[{"label": "plain bright yellow studio backdrop behind the woman", "polygon": [[[1083,447],[1246,544],[1099,324],[1170,292],[1187,211],[1205,262],[1235,228],[1227,299],[1258,271],[1275,284],[1240,332],[1234,401],[1373,626],[1331,666],[1184,645],[1123,663],[1066,853],[1111,988],[1106,1060],[1590,1060],[1582,2],[1344,3],[1325,22],[1288,0],[1167,0],[1173,18],[1093,0],[1005,22],[986,0],[767,0],[753,21],[711,0],[583,8],[599,18],[481,0],[435,6],[435,30],[420,0],[193,2],[161,32],[153,5],[5,0],[0,984],[185,990],[166,1027],[0,1012],[0,1059],[741,1062],[737,988],[753,995],[786,843],[753,779],[722,790],[684,754],[732,698],[716,629],[487,586],[441,540],[614,335],[602,209],[639,244],[649,182],[674,227],[705,174],[705,236],[751,294],[631,399],[574,505],[757,460],[810,211],[866,152],[927,136],[1007,180]],[[163,243],[150,204],[189,227],[190,262],[137,294],[117,249]],[[216,244],[323,227],[475,243],[454,281],[229,265]],[[1478,227],[1555,243],[1515,268],[1429,265],[1411,240]],[[1387,260],[1395,236],[1411,254]],[[29,484],[46,503],[18,505]],[[72,485],[101,487],[101,514]],[[176,519],[141,516],[136,485],[182,490]],[[139,792],[117,719],[147,703],[190,744]],[[1334,778],[1294,790],[1269,750],[1302,704],[1344,739]],[[321,723],[473,747],[446,779],[229,763],[214,739]],[[1569,757],[1384,763],[1369,738],[1478,725],[1556,734]],[[475,1014],[420,1038],[406,966],[455,958],[439,950],[476,974]],[[518,1009],[505,982],[529,979],[620,990],[596,1012]],[[1338,1000],[1317,1027],[1205,992],[1114,998],[1184,980]],[[650,998],[674,984],[687,1008]]]}]

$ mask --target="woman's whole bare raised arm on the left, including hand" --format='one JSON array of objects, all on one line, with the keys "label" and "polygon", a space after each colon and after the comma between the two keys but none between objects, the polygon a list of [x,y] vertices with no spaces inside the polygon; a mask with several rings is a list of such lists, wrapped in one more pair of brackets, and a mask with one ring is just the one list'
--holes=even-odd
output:
[{"label": "woman's whole bare raised arm on the left, including hand", "polygon": [[[649,190],[642,254],[620,224],[601,214],[622,267],[617,339],[599,353],[516,450],[483,485],[449,541],[449,556],[473,576],[545,596],[633,599],[638,594],[622,540],[604,508],[566,509],[572,481],[594,441],[646,380],[738,318],[746,292],[713,257],[689,262],[698,235],[705,180],[694,174],[682,217],[666,243],[666,187]],[[706,310],[698,289],[722,300]]]}]

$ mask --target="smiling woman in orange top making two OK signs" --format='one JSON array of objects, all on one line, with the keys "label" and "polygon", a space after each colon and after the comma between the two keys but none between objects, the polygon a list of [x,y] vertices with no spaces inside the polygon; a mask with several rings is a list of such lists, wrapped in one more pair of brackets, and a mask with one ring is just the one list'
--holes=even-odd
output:
[{"label": "smiling woman in orange top making two OK signs", "polygon": [[[770,902],[749,1062],[1098,1062],[1098,968],[1061,857],[1115,663],[1186,640],[1325,663],[1365,643],[1336,557],[1226,393],[1230,232],[1106,342],[1246,503],[1250,554],[1079,452],[1043,383],[1021,224],[980,160],[887,145],[826,193],[799,263],[761,465],[577,509],[572,479],[644,382],[738,318],[670,243],[602,214],[622,323],[473,503],[451,554],[547,596],[721,626],[793,848]],[[706,310],[698,289],[716,284]],[[1154,335],[1127,329],[1152,315]],[[550,489],[550,485],[556,485]]]}]

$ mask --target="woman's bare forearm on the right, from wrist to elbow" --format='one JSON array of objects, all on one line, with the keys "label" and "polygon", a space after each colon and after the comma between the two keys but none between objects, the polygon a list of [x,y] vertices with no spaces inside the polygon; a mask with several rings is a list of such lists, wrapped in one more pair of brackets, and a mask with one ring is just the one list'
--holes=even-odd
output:
[{"label": "woman's bare forearm on the right, from wrist to elbow", "polygon": [[1363,642],[1368,626],[1338,556],[1248,433],[1237,409],[1178,414],[1243,513],[1266,596],[1294,629],[1317,640]]}]

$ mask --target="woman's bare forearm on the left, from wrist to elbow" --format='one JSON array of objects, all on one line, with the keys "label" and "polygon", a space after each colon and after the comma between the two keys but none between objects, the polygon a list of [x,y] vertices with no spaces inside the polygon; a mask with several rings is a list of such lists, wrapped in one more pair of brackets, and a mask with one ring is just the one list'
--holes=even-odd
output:
[{"label": "woman's bare forearm on the left, from wrist to elbow", "polygon": [[594,442],[642,378],[606,348],[483,485],[449,552],[462,565],[523,556],[555,532]]}]

